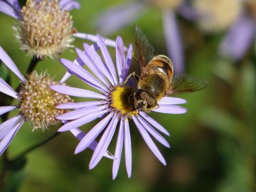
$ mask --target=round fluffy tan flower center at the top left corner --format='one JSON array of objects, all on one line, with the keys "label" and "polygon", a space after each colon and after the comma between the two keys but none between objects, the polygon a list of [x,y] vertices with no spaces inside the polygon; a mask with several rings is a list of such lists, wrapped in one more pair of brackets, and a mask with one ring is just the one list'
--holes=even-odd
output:
[{"label": "round fluffy tan flower center at the top left corner", "polygon": [[68,10],[60,9],[58,0],[26,1],[21,9],[21,21],[14,28],[21,49],[37,58],[58,56],[70,47],[75,33],[72,17]]}]

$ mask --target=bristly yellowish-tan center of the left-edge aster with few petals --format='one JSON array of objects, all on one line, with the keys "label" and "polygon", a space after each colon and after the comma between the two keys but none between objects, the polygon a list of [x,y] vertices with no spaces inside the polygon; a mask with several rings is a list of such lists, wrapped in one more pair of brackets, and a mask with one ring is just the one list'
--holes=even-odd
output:
[{"label": "bristly yellowish-tan center of the left-edge aster with few petals", "polygon": [[60,94],[50,89],[51,85],[58,85],[53,82],[46,73],[38,75],[33,72],[28,75],[28,80],[21,86],[20,110],[26,121],[33,123],[34,129],[46,129],[49,124],[56,124],[59,121],[55,116],[68,112],[68,110],[56,109],[55,106],[71,102],[68,95]]}]

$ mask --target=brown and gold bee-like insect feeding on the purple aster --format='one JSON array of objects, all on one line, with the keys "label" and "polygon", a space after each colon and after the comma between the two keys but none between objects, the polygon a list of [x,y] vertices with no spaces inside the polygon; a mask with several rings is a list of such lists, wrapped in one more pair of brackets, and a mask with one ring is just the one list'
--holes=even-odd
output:
[{"label": "brown and gold bee-like insect feeding on the purple aster", "polygon": [[129,96],[134,110],[150,112],[158,106],[157,102],[166,95],[202,90],[207,86],[206,80],[192,75],[174,75],[174,65],[165,55],[154,56],[154,48],[146,39],[139,26],[134,27],[134,41],[137,48],[137,63],[141,68],[140,78],[131,73],[127,77],[137,80],[137,90]]}]

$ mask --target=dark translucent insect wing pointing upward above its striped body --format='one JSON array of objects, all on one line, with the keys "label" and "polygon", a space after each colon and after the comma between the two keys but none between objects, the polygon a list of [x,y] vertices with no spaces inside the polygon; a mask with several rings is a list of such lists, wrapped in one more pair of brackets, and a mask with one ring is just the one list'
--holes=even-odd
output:
[{"label": "dark translucent insect wing pointing upward above its striped body", "polygon": [[142,69],[154,57],[154,48],[137,24],[134,26],[134,41],[137,48],[137,59]]}]

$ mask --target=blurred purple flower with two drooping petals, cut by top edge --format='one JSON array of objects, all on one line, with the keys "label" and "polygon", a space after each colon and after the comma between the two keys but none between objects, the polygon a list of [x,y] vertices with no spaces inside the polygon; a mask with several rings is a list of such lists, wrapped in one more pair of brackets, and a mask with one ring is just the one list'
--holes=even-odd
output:
[{"label": "blurred purple flower with two drooping petals, cut by top edge", "polygon": [[183,3],[184,0],[126,1],[114,6],[112,9],[103,11],[97,16],[95,23],[97,23],[100,33],[108,35],[132,23],[143,14],[146,14],[147,11],[150,11],[152,7],[160,9],[168,55],[174,62],[175,73],[183,73],[185,70],[183,43],[176,20],[178,11],[186,12],[186,9],[182,9]]}]

